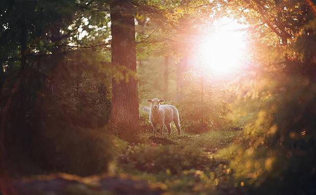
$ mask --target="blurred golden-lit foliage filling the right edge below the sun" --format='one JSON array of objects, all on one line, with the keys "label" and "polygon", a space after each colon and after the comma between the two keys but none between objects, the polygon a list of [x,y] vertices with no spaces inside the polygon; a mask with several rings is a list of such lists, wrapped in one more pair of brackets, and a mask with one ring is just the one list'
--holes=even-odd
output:
[{"label": "blurred golden-lit foliage filling the right edge below the sun", "polygon": [[[308,50],[302,49],[306,41],[313,45]],[[257,105],[250,111],[256,114],[245,125],[242,140],[223,154],[233,159],[236,177],[247,181],[254,192],[313,194],[315,45],[314,30],[305,29],[295,44],[285,48],[281,63],[254,77],[244,89],[248,93],[241,96],[251,103],[248,108]]]}]

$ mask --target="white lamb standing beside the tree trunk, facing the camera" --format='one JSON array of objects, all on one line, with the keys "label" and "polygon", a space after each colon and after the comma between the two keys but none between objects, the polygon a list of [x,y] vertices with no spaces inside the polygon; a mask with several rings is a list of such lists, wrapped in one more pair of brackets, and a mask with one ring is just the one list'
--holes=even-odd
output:
[{"label": "white lamb standing beside the tree trunk, facing the camera", "polygon": [[166,126],[168,130],[168,137],[171,133],[171,122],[173,121],[177,127],[178,134],[181,135],[180,120],[178,109],[172,105],[160,105],[164,100],[158,98],[148,99],[147,102],[152,103],[150,107],[149,120],[154,129],[156,136],[157,125],[160,126],[160,135],[162,135],[163,127]]}]

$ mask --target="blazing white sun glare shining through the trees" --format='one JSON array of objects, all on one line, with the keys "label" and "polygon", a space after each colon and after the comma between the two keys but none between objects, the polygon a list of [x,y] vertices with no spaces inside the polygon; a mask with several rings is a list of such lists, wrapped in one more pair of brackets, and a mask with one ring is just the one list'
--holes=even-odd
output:
[{"label": "blazing white sun glare shining through the trees", "polygon": [[228,74],[237,71],[242,66],[246,54],[246,28],[237,21],[222,18],[215,22],[215,31],[205,36],[198,47],[198,58],[212,73]]}]

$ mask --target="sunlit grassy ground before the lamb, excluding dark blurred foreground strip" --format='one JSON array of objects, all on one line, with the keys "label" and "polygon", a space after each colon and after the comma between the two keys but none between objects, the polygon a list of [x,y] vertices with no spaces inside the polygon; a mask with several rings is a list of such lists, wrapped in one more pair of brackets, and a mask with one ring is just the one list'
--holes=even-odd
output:
[{"label": "sunlit grassy ground before the lamb, excluding dark blurred foreground strip", "polygon": [[142,136],[141,144],[116,141],[116,174],[146,180],[166,194],[244,194],[234,183],[229,162],[216,152],[227,147],[239,131],[201,135]]}]

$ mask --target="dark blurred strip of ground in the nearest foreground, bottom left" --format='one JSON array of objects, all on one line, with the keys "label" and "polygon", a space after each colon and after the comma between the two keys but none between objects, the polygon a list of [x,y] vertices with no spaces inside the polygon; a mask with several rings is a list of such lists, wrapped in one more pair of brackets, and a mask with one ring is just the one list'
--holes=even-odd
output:
[{"label": "dark blurred strip of ground in the nearest foreground, bottom left", "polygon": [[160,195],[146,181],[119,177],[78,177],[54,174],[27,180],[1,182],[3,195]]}]

